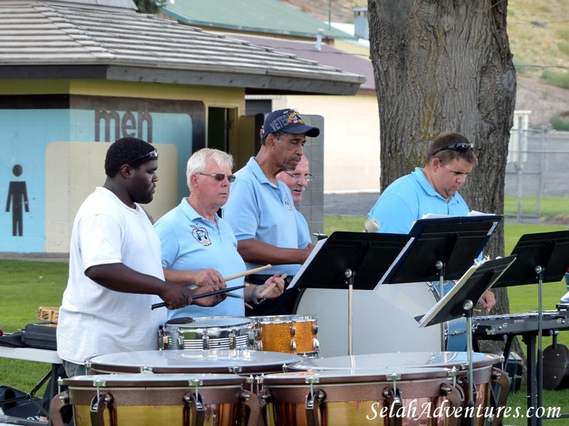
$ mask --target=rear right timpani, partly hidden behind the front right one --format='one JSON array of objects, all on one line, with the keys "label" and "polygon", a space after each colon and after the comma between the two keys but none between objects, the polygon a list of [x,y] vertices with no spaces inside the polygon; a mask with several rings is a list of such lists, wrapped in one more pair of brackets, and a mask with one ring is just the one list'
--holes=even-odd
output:
[{"label": "rear right timpani, partly hidden behind the front right one", "polygon": [[[509,393],[509,379],[504,371],[494,368],[502,361],[496,354],[472,353],[472,373],[474,386],[468,384],[468,352],[439,351],[439,352],[400,352],[397,354],[360,354],[353,356],[332,356],[321,359],[304,359],[298,364],[287,368],[287,371],[373,371],[377,368],[447,368],[456,372],[456,383],[462,400],[470,400],[470,390],[474,388],[476,398],[474,407],[486,409],[490,404],[491,388],[499,397],[496,407],[504,407]],[[482,410],[484,416],[484,410]],[[494,413],[496,410],[494,410]],[[494,417],[493,424],[499,424],[504,415],[504,409]],[[487,418],[487,417],[486,417]],[[475,424],[484,425],[486,418],[477,417]]]}]

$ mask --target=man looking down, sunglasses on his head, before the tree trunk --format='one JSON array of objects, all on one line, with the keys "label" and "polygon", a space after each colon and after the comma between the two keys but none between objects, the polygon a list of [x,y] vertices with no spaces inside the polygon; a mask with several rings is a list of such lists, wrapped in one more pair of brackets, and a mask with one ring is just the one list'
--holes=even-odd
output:
[{"label": "man looking down, sunglasses on his head, before the tree trunk", "polygon": [[[430,143],[425,167],[415,168],[385,188],[368,219],[378,221],[378,232],[408,234],[425,214],[467,216],[470,210],[459,190],[477,164],[467,138],[459,133],[440,134]],[[484,293],[479,303],[490,310],[496,304],[494,293]]]}]

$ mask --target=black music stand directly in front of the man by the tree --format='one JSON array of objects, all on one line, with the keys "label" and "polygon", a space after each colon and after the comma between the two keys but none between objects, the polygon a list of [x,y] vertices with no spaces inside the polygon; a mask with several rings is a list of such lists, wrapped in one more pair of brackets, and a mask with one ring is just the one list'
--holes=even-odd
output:
[{"label": "black music stand directly in front of the man by the tree", "polygon": [[[502,217],[484,214],[469,217],[419,219],[405,246],[380,284],[439,281],[439,297],[444,280],[457,280],[472,266],[486,246]],[[445,350],[445,327],[440,325],[441,351]]]}]

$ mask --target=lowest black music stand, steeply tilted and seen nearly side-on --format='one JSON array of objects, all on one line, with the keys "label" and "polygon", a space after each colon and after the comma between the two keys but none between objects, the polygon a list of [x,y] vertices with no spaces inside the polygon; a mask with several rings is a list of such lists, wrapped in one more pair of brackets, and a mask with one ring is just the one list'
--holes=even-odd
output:
[{"label": "lowest black music stand, steeply tilted and seen nearly side-on", "polygon": [[[496,280],[511,266],[516,260],[516,256],[498,258],[494,261],[485,261],[471,266],[462,275],[454,287],[444,295],[432,309],[423,317],[416,317],[419,327],[428,327],[434,324],[462,317],[467,318],[467,356],[468,356],[468,383],[469,383],[469,402],[468,407],[474,413],[474,394],[476,386],[474,384],[474,372],[472,371],[472,311],[474,304],[484,294],[486,290],[496,283]],[[474,425],[474,415],[470,417],[470,424]]]}]

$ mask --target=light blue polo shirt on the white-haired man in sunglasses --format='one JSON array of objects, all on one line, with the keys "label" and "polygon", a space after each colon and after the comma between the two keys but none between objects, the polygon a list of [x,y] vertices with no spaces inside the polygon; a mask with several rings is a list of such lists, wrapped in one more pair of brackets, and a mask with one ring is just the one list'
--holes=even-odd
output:
[{"label": "light blue polo shirt on the white-haired man in sunglasses", "polygon": [[[214,268],[227,277],[246,270],[245,262],[237,251],[237,240],[231,227],[220,217],[217,226],[201,217],[182,199],[178,207],[164,214],[154,229],[162,245],[162,266],[172,271],[203,271]],[[230,280],[228,287],[243,285],[244,278]],[[243,296],[243,289],[232,293]],[[226,297],[213,307],[189,305],[181,309],[169,310],[169,318],[212,317],[230,315],[243,317],[245,305],[242,299]]]}]

